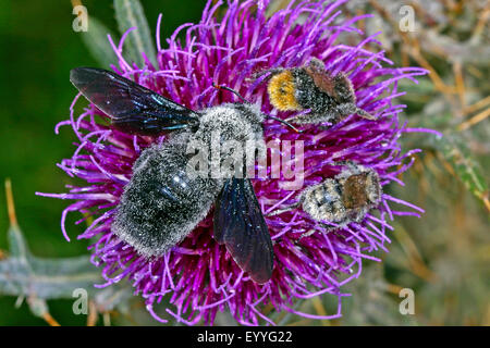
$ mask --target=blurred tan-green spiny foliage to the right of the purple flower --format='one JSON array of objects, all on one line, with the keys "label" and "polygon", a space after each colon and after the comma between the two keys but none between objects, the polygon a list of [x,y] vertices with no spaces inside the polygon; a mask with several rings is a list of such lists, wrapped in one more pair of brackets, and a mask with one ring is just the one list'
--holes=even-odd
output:
[{"label": "blurred tan-green spiny foliage to the right of the purple flower", "polygon": [[[489,325],[490,3],[370,0],[346,7],[351,15],[373,15],[362,26],[368,35],[382,30],[378,39],[395,65],[430,72],[418,85],[401,84],[406,95],[400,100],[407,104],[408,127],[443,134],[409,133],[402,138],[405,149],[424,152],[403,175],[405,187],[393,185],[390,190],[426,213],[419,220],[396,219],[390,253],[380,256],[383,277],[378,283],[385,285],[378,297],[391,297],[397,304],[401,288],[414,289],[413,316],[419,325]],[[409,13],[414,30],[403,32]],[[366,273],[352,283],[360,293],[367,286]],[[384,302],[377,300],[379,306]],[[348,312],[340,324],[360,324],[359,315]],[[366,318],[364,324],[400,323],[400,318]]]}]

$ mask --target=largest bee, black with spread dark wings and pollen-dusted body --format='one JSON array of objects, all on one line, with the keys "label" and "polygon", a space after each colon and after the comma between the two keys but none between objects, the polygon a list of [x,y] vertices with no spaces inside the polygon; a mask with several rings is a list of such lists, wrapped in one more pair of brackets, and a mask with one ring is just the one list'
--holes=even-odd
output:
[{"label": "largest bee, black with spread dark wings and pollen-dusted body", "polygon": [[169,134],[145,149],[133,166],[111,228],[150,258],[170,250],[215,209],[215,239],[224,244],[238,266],[256,283],[273,270],[271,237],[248,178],[189,176],[188,141],[260,140],[266,115],[252,103],[225,103],[189,110],[112,72],[77,67],[73,85],[112,119],[115,128],[137,135]]}]

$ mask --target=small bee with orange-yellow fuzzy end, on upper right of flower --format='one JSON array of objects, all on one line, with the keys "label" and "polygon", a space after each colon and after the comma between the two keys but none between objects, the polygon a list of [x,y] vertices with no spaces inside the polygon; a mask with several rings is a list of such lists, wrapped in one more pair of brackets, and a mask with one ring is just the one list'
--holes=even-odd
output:
[{"label": "small bee with orange-yellow fuzzy end, on upper right of flower", "polygon": [[356,105],[356,96],[348,77],[339,73],[332,76],[318,59],[308,65],[274,69],[267,85],[270,103],[279,111],[302,111],[307,114],[287,121],[297,124],[336,124],[356,113],[368,120],[376,117]]}]

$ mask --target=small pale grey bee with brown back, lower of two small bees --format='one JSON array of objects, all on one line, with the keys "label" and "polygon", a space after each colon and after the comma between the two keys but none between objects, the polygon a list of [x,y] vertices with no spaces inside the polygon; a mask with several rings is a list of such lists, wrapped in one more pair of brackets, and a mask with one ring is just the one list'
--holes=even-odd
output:
[{"label": "small pale grey bee with brown back, lower of two small bees", "polygon": [[341,228],[351,222],[360,222],[381,200],[379,175],[372,169],[353,162],[346,164],[347,167],[334,177],[304,189],[296,203],[269,215],[301,207],[311,219],[338,225],[333,227],[324,224],[328,231]]}]

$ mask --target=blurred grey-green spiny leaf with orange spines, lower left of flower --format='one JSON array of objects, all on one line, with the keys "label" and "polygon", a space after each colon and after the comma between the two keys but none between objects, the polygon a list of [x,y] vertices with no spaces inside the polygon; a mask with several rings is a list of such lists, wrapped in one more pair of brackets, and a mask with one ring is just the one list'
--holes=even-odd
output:
[{"label": "blurred grey-green spiny leaf with orange spines, lower left of flower", "polygon": [[103,279],[90,263],[88,256],[64,259],[33,256],[19,227],[9,179],[5,181],[5,191],[10,220],[8,231],[10,257],[0,260],[0,295],[26,298],[33,314],[42,318],[50,325],[59,324],[49,314],[46,301],[58,298],[71,299],[74,290],[79,288],[95,299],[98,311],[107,312],[114,308],[128,307],[127,302],[133,298],[133,293],[127,283],[103,290],[94,287],[94,284],[103,283]]}]

